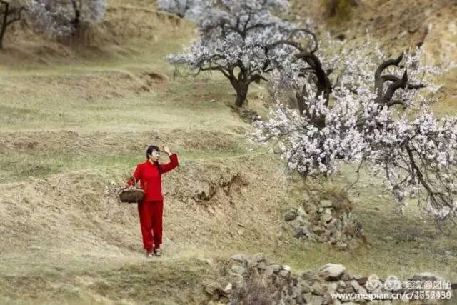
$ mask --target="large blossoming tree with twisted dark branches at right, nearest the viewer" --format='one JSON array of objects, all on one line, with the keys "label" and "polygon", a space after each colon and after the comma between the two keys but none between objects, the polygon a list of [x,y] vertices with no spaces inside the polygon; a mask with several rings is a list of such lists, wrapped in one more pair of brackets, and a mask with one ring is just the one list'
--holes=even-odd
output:
[{"label": "large blossoming tree with twisted dark branches at right, nearest the viewer", "polygon": [[[438,86],[423,78],[438,73],[420,64],[420,50],[378,60],[360,54],[328,59],[318,44],[289,47],[290,56],[273,73],[276,107],[256,121],[253,139],[277,139],[281,156],[303,177],[333,174],[338,165],[361,164],[382,173],[401,211],[407,196],[435,216],[450,234],[456,225],[457,116],[431,111]],[[283,101],[295,92],[297,109]],[[282,96],[281,96],[282,95]]]}]

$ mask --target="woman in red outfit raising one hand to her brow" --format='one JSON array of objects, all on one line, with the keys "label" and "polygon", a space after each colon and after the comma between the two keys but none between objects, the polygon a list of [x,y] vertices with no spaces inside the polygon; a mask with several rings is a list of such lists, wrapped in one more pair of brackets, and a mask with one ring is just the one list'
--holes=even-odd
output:
[{"label": "woman in red outfit raising one hand to her brow", "polygon": [[[138,213],[143,236],[143,247],[146,256],[153,253],[161,256],[160,244],[162,243],[162,214],[164,211],[164,196],[162,195],[161,176],[178,166],[178,156],[171,154],[167,146],[162,149],[169,155],[170,162],[159,164],[159,147],[151,145],[146,149],[147,160],[136,166],[134,177],[140,181],[144,189],[144,199],[138,204]],[[127,184],[134,185],[133,178]]]}]

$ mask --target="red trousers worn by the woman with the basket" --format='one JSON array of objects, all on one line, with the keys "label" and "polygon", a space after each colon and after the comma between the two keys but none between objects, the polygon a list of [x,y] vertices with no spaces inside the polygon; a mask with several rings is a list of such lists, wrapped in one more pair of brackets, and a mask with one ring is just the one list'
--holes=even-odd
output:
[{"label": "red trousers worn by the woman with the basket", "polygon": [[160,248],[162,243],[162,214],[164,201],[145,201],[138,204],[143,247],[152,251]]}]

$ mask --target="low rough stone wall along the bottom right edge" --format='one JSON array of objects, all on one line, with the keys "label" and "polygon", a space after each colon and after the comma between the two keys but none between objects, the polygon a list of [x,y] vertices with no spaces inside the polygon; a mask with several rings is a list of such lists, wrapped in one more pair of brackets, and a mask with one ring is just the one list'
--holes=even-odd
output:
[{"label": "low rough stone wall along the bottom right edge", "polygon": [[[283,264],[269,263],[263,254],[246,256],[236,254],[231,257],[218,281],[204,286],[208,295],[207,305],[216,304],[394,304],[393,294],[428,291],[431,294],[453,296],[457,283],[448,283],[434,289],[414,289],[401,283],[399,279],[378,279],[378,277],[350,274],[343,265],[325,264],[318,271],[306,271],[293,274],[291,268]],[[422,273],[407,279],[425,283],[441,281],[440,276]],[[423,287],[423,286],[421,286]],[[455,292],[455,291],[454,291]],[[364,294],[364,299],[354,297],[338,298],[335,293]],[[373,295],[384,299],[374,299]],[[413,294],[412,294],[413,295]],[[441,299],[445,299],[444,297]],[[452,301],[452,300],[451,300]],[[436,298],[421,300],[419,304],[438,304]]]}]

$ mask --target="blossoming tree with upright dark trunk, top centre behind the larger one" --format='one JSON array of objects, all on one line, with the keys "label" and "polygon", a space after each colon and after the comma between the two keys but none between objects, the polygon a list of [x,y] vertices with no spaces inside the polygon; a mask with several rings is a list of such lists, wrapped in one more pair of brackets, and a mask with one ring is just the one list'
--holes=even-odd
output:
[{"label": "blossoming tree with upright dark trunk, top centre behind the larger one", "polygon": [[219,71],[236,91],[236,106],[243,106],[253,81],[266,80],[273,71],[280,47],[266,46],[286,39],[294,26],[273,13],[284,10],[286,0],[202,1],[197,20],[199,40],[184,54],[167,57],[172,64],[184,64],[199,74]]}]

